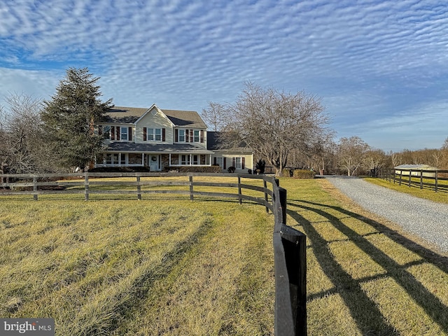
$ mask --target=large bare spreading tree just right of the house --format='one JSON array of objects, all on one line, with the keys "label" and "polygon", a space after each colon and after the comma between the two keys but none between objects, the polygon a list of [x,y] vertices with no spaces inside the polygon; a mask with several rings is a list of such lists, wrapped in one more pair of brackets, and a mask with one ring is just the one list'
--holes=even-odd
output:
[{"label": "large bare spreading tree just right of the house", "polygon": [[230,106],[231,118],[225,127],[230,137],[224,142],[234,146],[235,141],[244,141],[255,155],[275,167],[278,176],[291,151],[308,153],[331,133],[326,128],[329,119],[324,110],[320,99],[313,95],[246,83],[237,102]]}]

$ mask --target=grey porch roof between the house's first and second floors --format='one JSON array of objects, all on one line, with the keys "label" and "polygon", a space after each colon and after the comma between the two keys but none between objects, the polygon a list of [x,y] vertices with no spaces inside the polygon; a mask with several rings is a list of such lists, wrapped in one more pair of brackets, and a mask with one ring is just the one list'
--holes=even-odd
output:
[{"label": "grey porch roof between the house's first and second floors", "polygon": [[107,145],[107,151],[137,153],[197,153],[213,154],[211,151],[192,144],[134,144],[115,141]]}]

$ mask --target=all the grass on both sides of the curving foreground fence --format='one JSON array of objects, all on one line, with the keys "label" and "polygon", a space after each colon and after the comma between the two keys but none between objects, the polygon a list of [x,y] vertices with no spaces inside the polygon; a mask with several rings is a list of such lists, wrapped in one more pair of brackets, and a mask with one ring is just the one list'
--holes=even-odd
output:
[{"label": "all the grass on both sides of the curving foreground fence", "polygon": [[[448,335],[447,255],[325,179],[280,184],[307,235],[309,335]],[[57,335],[273,335],[264,207],[66,197],[0,201],[0,316],[53,317]]]}]

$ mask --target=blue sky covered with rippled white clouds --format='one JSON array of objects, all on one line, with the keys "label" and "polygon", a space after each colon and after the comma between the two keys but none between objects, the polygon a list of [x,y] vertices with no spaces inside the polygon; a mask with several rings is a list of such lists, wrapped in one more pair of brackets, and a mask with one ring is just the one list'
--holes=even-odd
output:
[{"label": "blue sky covered with rippled white clouds", "polygon": [[446,0],[3,0],[0,104],[68,67],[117,106],[201,112],[251,82],[321,97],[340,137],[384,151],[448,137]]}]

